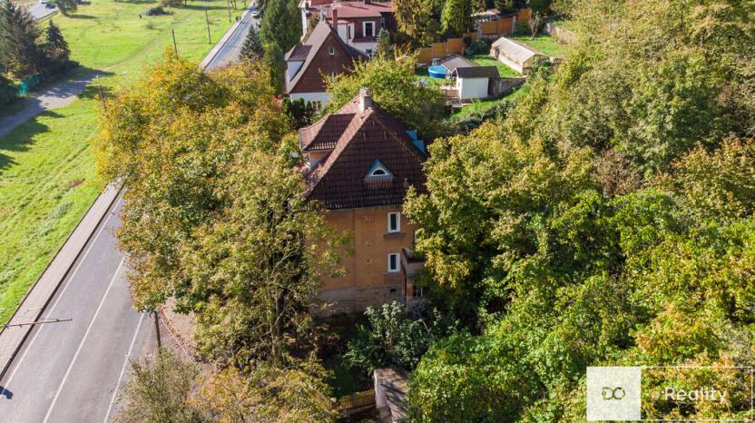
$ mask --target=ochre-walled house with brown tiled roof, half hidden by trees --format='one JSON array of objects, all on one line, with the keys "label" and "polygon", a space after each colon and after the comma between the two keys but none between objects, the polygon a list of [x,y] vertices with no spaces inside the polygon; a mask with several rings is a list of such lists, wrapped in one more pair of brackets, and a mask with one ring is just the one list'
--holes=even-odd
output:
[{"label": "ochre-walled house with brown tiled roof, half hidden by trees", "polygon": [[422,268],[411,248],[417,226],[401,206],[409,187],[425,191],[425,143],[372,102],[366,89],[337,113],[299,130],[306,155],[305,196],[321,203],[325,220],[352,234],[344,276],[323,276],[320,299],[329,311],[354,312],[422,296],[412,278]]}]

